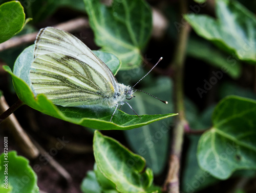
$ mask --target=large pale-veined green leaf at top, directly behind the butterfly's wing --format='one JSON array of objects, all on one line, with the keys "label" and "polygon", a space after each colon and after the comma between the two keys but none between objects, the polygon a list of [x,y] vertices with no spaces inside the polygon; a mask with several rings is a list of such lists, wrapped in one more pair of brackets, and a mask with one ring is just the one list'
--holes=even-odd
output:
[{"label": "large pale-veined green leaf at top, directly behind the butterfly's wing", "polygon": [[114,0],[105,6],[98,0],[84,0],[84,4],[101,50],[115,54],[122,61],[121,69],[138,67],[152,30],[152,13],[146,2]]}]

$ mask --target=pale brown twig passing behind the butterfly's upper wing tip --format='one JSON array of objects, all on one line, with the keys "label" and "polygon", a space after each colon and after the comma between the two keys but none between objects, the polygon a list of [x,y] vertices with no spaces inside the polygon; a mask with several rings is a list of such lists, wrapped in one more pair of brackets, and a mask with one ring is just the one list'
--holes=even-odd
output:
[{"label": "pale brown twig passing behind the butterfly's upper wing tip", "polygon": [[[54,27],[68,32],[74,32],[82,27],[89,27],[89,22],[87,18],[79,17],[76,19],[71,19],[67,22],[60,23]],[[10,49],[11,47],[16,47],[35,41],[37,33],[38,32],[16,36],[3,43],[0,43],[0,52]]]}]

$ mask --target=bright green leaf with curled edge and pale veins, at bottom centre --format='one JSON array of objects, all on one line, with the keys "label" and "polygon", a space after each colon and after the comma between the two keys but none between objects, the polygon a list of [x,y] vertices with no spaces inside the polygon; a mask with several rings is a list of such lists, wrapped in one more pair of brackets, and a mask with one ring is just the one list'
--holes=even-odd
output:
[{"label": "bright green leaf with curled edge and pale veins, at bottom centre", "polygon": [[153,192],[147,191],[153,182],[153,174],[146,169],[145,160],[123,147],[113,138],[94,132],[94,157],[99,171],[116,185],[121,192]]}]

